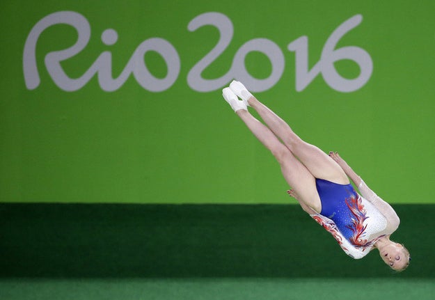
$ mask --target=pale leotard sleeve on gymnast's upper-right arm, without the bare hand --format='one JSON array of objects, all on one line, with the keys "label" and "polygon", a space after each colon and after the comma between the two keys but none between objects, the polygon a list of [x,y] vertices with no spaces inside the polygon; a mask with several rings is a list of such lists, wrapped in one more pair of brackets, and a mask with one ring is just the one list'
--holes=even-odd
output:
[{"label": "pale leotard sleeve on gymnast's upper-right arm, without the bare hand", "polygon": [[377,196],[374,191],[367,187],[367,184],[365,184],[363,180],[361,180],[358,190],[360,191],[361,196],[372,203],[372,205],[374,205],[374,207],[376,207],[377,210],[379,210],[379,212],[381,212],[381,214],[383,214],[383,216],[385,216],[387,219],[387,227],[383,234],[390,235],[391,233],[395,232],[395,230],[397,230],[399,227],[400,219],[395,210],[393,210],[393,207],[382,200],[381,197]]}]

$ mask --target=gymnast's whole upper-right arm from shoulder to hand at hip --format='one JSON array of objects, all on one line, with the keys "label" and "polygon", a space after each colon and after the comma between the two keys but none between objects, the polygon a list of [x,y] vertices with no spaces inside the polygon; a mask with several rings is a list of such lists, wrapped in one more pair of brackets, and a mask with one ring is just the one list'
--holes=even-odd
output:
[{"label": "gymnast's whole upper-right arm from shoulder to hand at hip", "polygon": [[347,164],[347,162],[342,159],[337,152],[329,152],[329,156],[340,165],[343,171],[345,171],[346,175],[349,176],[352,182],[354,182],[356,187],[358,187],[361,196],[370,201],[370,203],[372,203],[374,207],[376,207],[377,210],[379,210],[379,212],[386,217],[388,222],[388,231],[394,232],[397,227],[399,227],[400,219],[395,210],[393,210],[393,207],[391,207],[388,203],[382,200],[381,197],[377,196],[374,191],[367,187],[367,184],[365,184],[361,177],[358,176],[354,170],[352,170],[349,164]]}]

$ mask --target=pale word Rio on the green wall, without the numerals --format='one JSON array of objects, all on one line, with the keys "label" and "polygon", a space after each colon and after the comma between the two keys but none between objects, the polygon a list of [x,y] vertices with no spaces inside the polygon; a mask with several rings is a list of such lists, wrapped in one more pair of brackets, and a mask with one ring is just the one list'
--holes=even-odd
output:
[{"label": "pale word Rio on the green wall, without the numerals", "polygon": [[[180,72],[180,57],[171,43],[161,38],[150,38],[142,42],[136,48],[136,51],[130,58],[127,66],[122,70],[120,76],[116,79],[112,77],[112,54],[108,51],[102,52],[81,77],[77,79],[68,77],[61,66],[61,62],[72,58],[86,47],[90,38],[90,26],[88,20],[79,13],[64,11],[47,15],[47,17],[41,19],[40,22],[35,24],[27,37],[26,44],[24,45],[23,69],[24,80],[29,90],[37,88],[40,84],[35,54],[36,43],[42,31],[55,24],[73,26],[79,36],[77,42],[72,47],[61,51],[49,52],[45,56],[47,72],[49,72],[54,83],[62,90],[70,92],[79,90],[97,74],[102,90],[111,92],[118,90],[118,88],[125,84],[129,75],[133,73],[136,81],[143,88],[152,92],[161,92],[170,88],[178,77]],[[102,33],[102,42],[105,45],[113,45],[117,40],[118,33],[113,29],[106,29]],[[155,78],[146,68],[143,56],[148,51],[155,51],[164,58],[168,67],[168,74],[166,74],[164,79]]]}]

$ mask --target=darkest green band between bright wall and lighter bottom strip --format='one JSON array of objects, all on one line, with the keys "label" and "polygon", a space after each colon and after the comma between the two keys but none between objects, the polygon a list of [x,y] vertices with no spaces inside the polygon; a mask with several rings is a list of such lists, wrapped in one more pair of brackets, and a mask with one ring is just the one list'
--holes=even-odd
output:
[{"label": "darkest green band between bright wall and lighter bottom strip", "polygon": [[[393,239],[434,278],[435,205],[395,205]],[[296,205],[0,204],[0,278],[390,277],[353,260]]]}]

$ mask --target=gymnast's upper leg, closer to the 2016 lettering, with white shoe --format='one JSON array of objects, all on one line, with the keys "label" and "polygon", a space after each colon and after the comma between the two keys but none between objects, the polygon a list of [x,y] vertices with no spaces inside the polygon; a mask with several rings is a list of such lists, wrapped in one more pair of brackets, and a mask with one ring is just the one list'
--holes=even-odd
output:
[{"label": "gymnast's upper leg, closer to the 2016 lettering, with white shoe", "polygon": [[[314,177],[329,180],[338,184],[348,184],[349,179],[338,164],[326,153],[303,141],[297,136],[287,123],[278,117],[267,106],[258,101],[246,90],[243,84],[232,81],[230,88],[258,112],[264,123],[267,124],[284,145],[302,162]],[[296,189],[299,194],[299,190]]]}]

